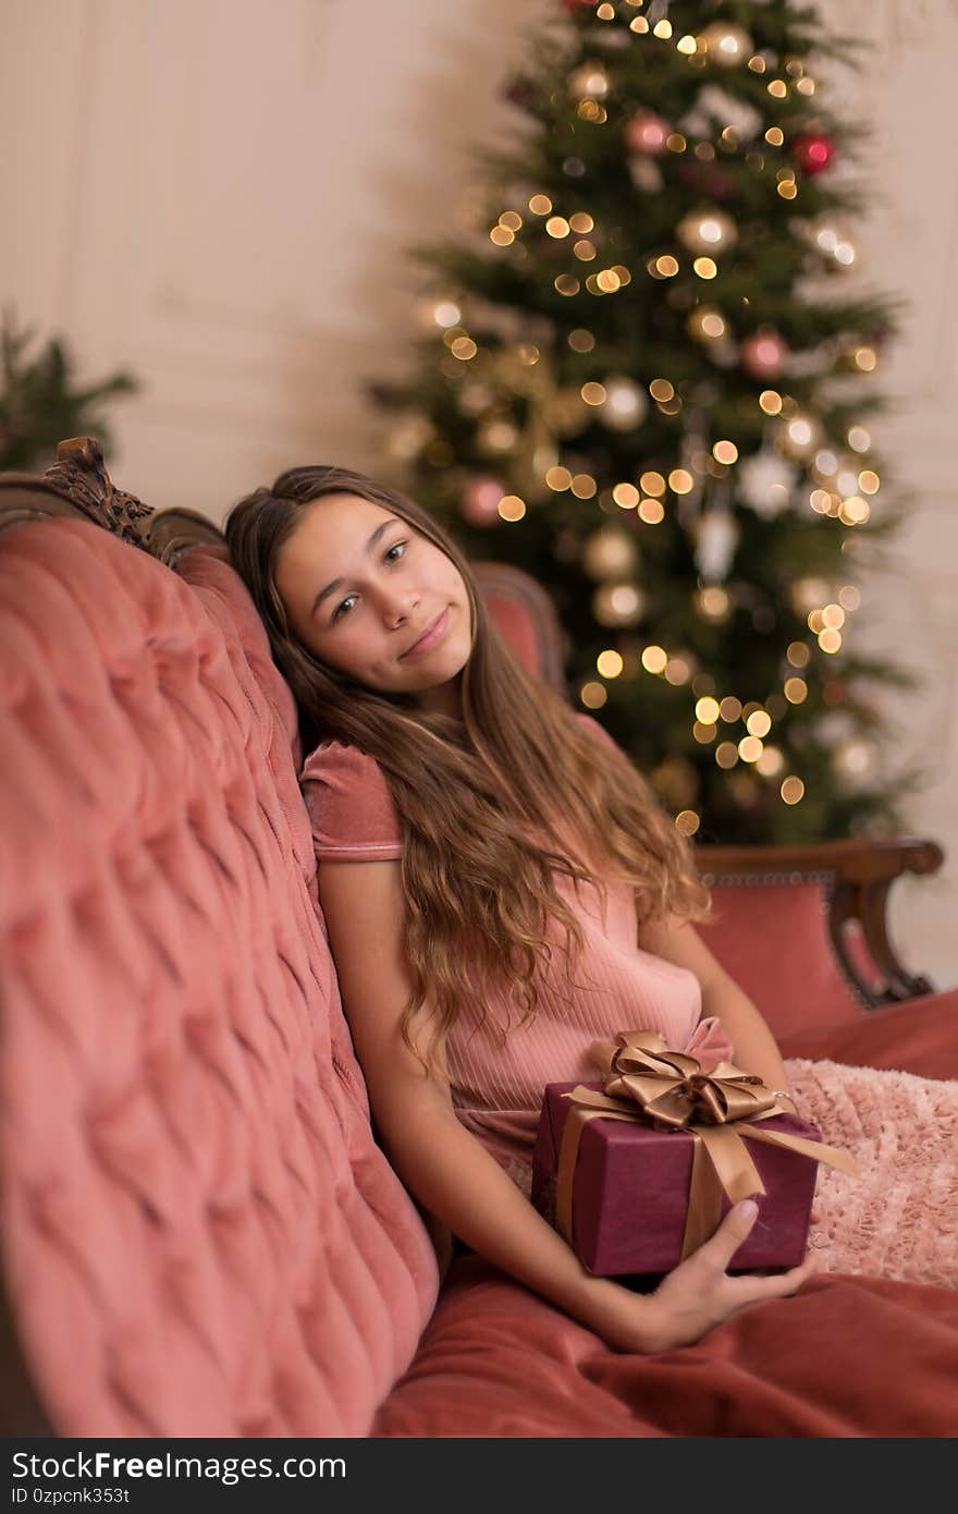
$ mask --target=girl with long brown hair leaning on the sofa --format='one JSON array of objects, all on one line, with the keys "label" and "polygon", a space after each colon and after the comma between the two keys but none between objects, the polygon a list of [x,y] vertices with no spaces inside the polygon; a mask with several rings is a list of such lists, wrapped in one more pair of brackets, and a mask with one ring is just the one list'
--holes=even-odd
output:
[{"label": "girl with long brown hair leaning on the sofa", "polygon": [[764,1020],[692,927],[708,895],[687,843],[628,759],[525,674],[463,556],[404,495],[294,468],[233,509],[226,537],[315,745],[301,778],[319,898],[409,1190],[621,1350],[692,1343],[795,1293],[811,1260],[725,1272],[752,1202],[639,1294],[589,1275],[527,1198],[543,1086],[593,1076],[596,1039],[660,1030],[705,1067],[731,1057],[788,1090]]}]

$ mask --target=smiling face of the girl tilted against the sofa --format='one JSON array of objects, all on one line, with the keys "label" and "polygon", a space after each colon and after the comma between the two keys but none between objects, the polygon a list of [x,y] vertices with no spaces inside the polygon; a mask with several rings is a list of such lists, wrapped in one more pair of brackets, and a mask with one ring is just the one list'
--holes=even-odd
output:
[{"label": "smiling face of the girl tilted against the sofa", "polygon": [[313,500],[278,551],[275,584],[321,662],[368,689],[460,713],[472,648],[466,584],[398,515],[354,494]]}]

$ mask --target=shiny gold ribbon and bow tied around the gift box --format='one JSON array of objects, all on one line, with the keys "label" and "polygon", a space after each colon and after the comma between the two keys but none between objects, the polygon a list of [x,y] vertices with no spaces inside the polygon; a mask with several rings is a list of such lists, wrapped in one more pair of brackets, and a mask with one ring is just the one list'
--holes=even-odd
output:
[{"label": "shiny gold ribbon and bow tied around the gift box", "polygon": [[788,1111],[761,1078],[731,1061],[722,1061],[707,1073],[695,1057],[669,1051],[658,1031],[619,1031],[614,1042],[593,1042],[592,1060],[604,1075],[605,1092],[578,1084],[563,1095],[572,1108],[558,1148],[555,1226],[569,1245],[578,1146],[586,1125],[595,1119],[651,1123],[657,1129],[692,1136],[695,1146],[683,1258],[714,1234],[722,1216],[722,1195],[737,1204],[766,1192],[743,1136],[769,1146],[784,1146],[851,1176],[858,1175],[852,1157],[838,1146],[784,1131],[766,1131],[754,1123]]}]

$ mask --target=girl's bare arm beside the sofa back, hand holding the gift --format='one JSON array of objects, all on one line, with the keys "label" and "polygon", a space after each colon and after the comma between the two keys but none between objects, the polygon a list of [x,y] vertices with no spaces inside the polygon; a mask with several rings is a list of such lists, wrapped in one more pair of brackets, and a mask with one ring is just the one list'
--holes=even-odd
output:
[{"label": "girl's bare arm beside the sofa back, hand holding the gift", "polygon": [[410,980],[398,861],[322,863],[319,898],[369,1102],[389,1158],[419,1202],[466,1245],[596,1331],[619,1350],[666,1350],[805,1281],[810,1264],[775,1278],[728,1278],[754,1223],[732,1210],[714,1237],[652,1294],[593,1278],[483,1145],[457,1120],[449,1086],[406,1048]]}]

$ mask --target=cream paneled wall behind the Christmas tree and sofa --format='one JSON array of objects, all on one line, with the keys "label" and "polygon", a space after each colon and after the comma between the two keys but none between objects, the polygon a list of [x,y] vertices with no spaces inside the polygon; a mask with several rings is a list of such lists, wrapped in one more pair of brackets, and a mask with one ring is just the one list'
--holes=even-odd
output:
[{"label": "cream paneled wall behind the Christmas tree and sofa", "polygon": [[[416,327],[404,248],[454,233],[468,148],[507,129],[498,92],[558,0],[6,0],[0,298],[68,336],[95,377],[127,365],[120,483],[219,518],[295,462],[377,471],[362,383],[401,374]],[[832,12],[832,8],[826,8]],[[958,983],[958,194],[952,0],[844,0],[875,47],[841,76],[875,132],[863,277],[911,298],[875,435],[917,509],[866,584],[858,645],[926,675],[894,702],[929,763],[910,828],[949,852],[904,881],[907,958]],[[375,24],[371,17],[375,15]]]}]

